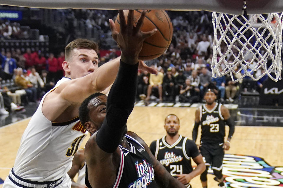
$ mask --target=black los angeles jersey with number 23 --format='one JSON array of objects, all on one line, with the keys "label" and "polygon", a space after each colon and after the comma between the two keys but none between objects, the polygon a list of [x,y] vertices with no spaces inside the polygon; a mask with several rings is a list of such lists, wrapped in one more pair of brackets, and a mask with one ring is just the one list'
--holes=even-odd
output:
[{"label": "black los angeles jersey with number 23", "polygon": [[221,114],[220,103],[215,103],[212,110],[200,106],[201,137],[200,142],[215,144],[223,143],[225,137],[225,122]]}]

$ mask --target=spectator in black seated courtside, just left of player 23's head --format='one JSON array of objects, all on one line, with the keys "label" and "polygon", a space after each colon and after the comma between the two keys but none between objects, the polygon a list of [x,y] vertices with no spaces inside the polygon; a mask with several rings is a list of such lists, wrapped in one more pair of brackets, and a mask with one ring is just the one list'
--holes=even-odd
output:
[{"label": "spectator in black seated courtside, just left of player 23's head", "polygon": [[191,85],[191,80],[188,78],[185,85],[180,90],[179,102],[182,103],[197,103],[200,100],[200,89]]}]

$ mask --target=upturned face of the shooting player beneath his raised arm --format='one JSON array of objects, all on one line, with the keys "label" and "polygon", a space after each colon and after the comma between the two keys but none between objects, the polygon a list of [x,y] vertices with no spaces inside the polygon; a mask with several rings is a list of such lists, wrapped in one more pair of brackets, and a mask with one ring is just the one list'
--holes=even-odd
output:
[{"label": "upturned face of the shooting player beneath his raised arm", "polygon": [[[89,117],[90,117],[89,124],[92,126],[91,128],[95,128],[95,131],[100,129],[103,123],[103,120],[106,116],[106,103],[107,103],[106,95],[101,95],[96,98],[93,98],[88,103],[88,108],[90,109],[89,110]],[[91,133],[95,132],[89,129],[88,131]]]}]

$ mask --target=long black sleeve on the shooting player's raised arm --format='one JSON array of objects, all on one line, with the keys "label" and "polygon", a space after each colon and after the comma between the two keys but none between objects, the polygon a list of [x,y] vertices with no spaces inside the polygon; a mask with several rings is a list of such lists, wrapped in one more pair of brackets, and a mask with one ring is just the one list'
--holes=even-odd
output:
[{"label": "long black sleeve on the shooting player's raised arm", "polygon": [[120,61],[119,71],[107,98],[106,118],[96,134],[98,147],[113,153],[123,136],[127,119],[135,104],[139,63]]}]

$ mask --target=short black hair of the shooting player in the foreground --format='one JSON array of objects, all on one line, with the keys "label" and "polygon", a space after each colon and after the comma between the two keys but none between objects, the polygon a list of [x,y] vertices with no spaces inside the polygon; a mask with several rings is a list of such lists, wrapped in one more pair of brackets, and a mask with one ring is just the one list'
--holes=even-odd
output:
[{"label": "short black hair of the shooting player in the foreground", "polygon": [[88,109],[88,103],[91,101],[91,99],[96,98],[98,96],[104,95],[103,93],[94,93],[92,95],[90,95],[88,98],[86,98],[82,104],[80,105],[79,108],[79,118],[80,118],[80,122],[83,125],[83,127],[85,128],[85,122],[87,122],[89,120],[89,109]]}]

